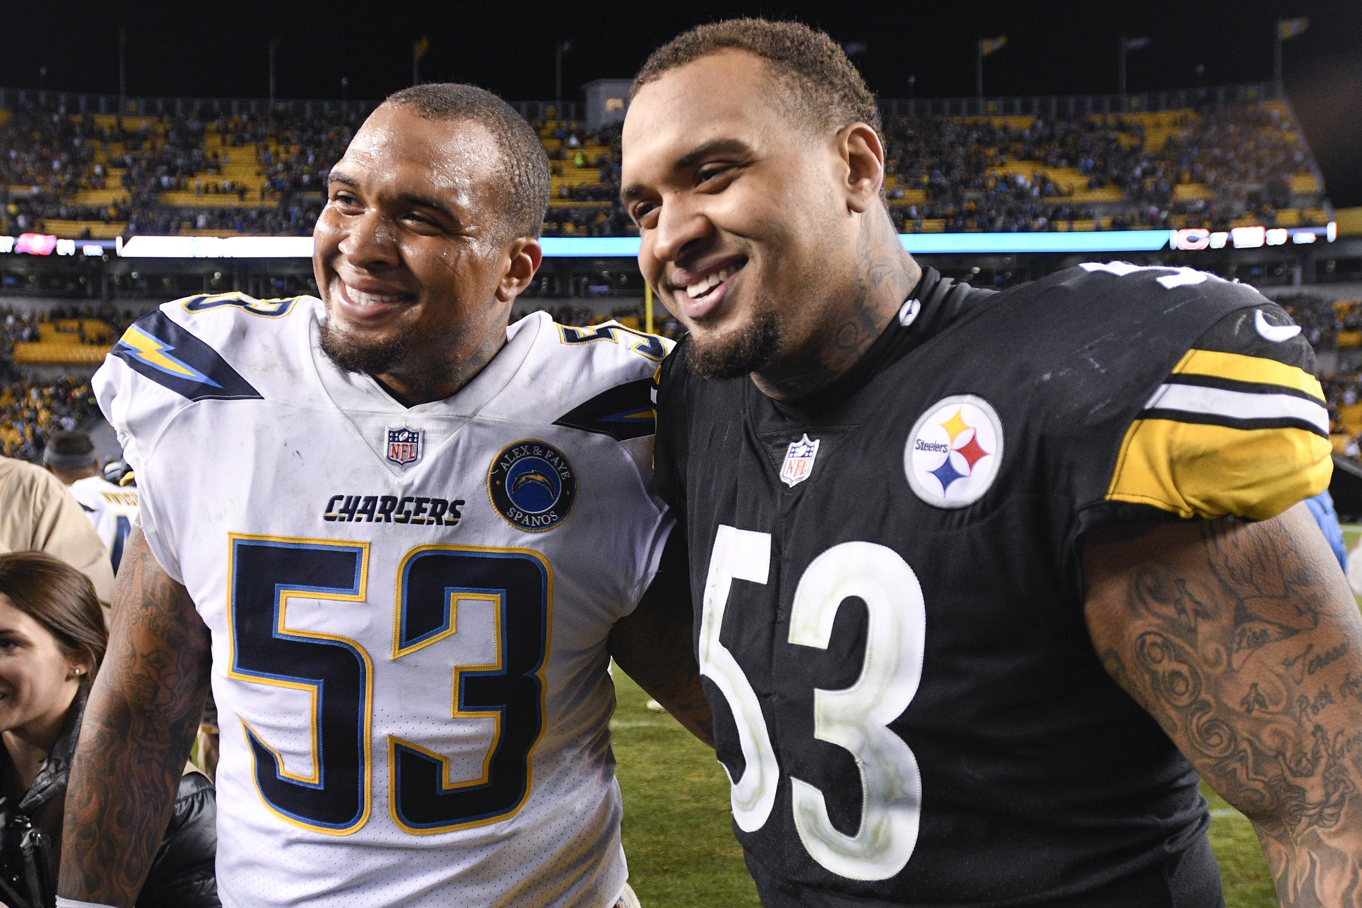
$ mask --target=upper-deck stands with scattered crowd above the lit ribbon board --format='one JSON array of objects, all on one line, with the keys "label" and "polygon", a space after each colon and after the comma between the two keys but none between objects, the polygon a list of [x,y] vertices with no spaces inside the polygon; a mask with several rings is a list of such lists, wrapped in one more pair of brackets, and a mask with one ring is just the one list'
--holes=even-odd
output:
[{"label": "upper-deck stands with scattered crowd above the lit ribbon board", "polygon": [[[29,192],[12,194],[0,210],[0,232],[78,220],[125,224],[127,234],[305,236],[323,205],[326,176],[362,120],[357,110],[206,121],[195,115],[116,120],[20,108],[0,127],[0,184]],[[563,177],[545,236],[636,233],[617,203],[620,127],[533,125],[552,172]],[[1072,229],[1075,221],[1111,229],[1224,229],[1244,214],[1272,224],[1275,211],[1291,203],[1291,176],[1309,169],[1295,125],[1275,108],[1208,110],[1171,125],[1162,146],[1150,147],[1141,121],[1120,116],[1042,117],[1026,128],[1007,117],[891,119],[884,124],[891,213],[904,232],[1056,230]],[[240,173],[242,162],[253,173],[251,185],[229,175],[232,165]],[[1032,162],[1034,170],[1017,166]],[[1086,187],[1053,179],[1065,169],[1086,177]],[[117,175],[113,184],[110,173]],[[1188,183],[1207,187],[1214,198],[1178,199],[1175,188]],[[125,199],[78,202],[80,190],[120,187]],[[1083,200],[1086,191],[1107,187],[1120,191],[1107,196],[1117,203]],[[168,205],[165,192],[193,198]]]}]

